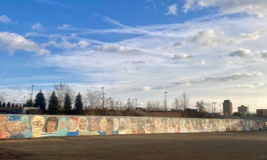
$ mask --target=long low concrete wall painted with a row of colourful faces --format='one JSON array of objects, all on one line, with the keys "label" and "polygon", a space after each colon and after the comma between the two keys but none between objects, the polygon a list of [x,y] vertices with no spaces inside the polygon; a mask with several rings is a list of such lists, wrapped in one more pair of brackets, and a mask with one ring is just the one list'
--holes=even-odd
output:
[{"label": "long low concrete wall painted with a row of colourful faces", "polygon": [[78,135],[266,130],[266,120],[0,115],[0,139]]}]

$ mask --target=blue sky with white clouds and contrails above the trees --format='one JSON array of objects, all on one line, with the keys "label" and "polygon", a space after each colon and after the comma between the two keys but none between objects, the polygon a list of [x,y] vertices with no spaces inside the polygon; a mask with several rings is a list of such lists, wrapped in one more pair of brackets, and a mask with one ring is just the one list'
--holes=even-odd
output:
[{"label": "blue sky with white clouds and contrails above the trees", "polygon": [[0,93],[53,83],[116,100],[266,109],[266,0],[1,1]]}]

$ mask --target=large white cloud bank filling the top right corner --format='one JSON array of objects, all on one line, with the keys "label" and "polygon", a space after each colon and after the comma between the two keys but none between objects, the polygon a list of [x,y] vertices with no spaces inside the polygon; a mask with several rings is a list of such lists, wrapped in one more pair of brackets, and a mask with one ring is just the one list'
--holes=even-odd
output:
[{"label": "large white cloud bank filling the top right corner", "polygon": [[183,9],[187,12],[209,6],[218,6],[222,13],[246,12],[260,17],[267,15],[266,0],[186,0]]}]

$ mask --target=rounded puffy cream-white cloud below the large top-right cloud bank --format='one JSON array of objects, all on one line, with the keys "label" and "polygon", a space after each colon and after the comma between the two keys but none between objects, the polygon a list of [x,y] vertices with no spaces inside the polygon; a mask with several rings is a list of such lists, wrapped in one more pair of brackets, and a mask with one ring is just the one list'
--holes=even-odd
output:
[{"label": "rounded puffy cream-white cloud below the large top-right cloud bank", "polygon": [[216,47],[219,39],[213,30],[206,29],[198,31],[198,33],[191,37],[189,41],[209,48]]}]

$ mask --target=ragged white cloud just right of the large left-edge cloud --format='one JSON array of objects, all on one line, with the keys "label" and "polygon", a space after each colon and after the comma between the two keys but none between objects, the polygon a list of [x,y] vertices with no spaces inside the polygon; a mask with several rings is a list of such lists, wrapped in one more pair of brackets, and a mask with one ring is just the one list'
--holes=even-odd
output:
[{"label": "ragged white cloud just right of the large left-edge cloud", "polygon": [[56,48],[62,48],[62,49],[76,49],[76,48],[86,48],[87,46],[90,45],[89,42],[85,41],[85,40],[80,40],[78,43],[74,42],[71,43],[68,40],[66,40],[66,38],[62,38],[62,42],[57,43],[56,41],[49,41],[48,43],[43,43],[42,46],[46,47],[49,45],[53,45]]}]

